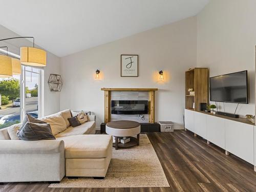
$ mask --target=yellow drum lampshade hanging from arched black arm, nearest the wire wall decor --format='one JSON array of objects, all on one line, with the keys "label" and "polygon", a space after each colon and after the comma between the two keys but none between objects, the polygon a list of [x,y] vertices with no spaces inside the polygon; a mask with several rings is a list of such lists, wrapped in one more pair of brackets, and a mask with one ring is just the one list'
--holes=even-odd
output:
[{"label": "yellow drum lampshade hanging from arched black arm, nearest the wire wall decor", "polygon": [[25,66],[46,66],[46,51],[34,47],[20,48],[20,63]]}]

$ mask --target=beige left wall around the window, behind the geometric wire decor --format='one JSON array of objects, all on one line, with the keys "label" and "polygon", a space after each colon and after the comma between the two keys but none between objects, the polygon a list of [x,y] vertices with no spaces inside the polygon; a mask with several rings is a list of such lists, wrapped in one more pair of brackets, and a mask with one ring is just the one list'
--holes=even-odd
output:
[{"label": "beige left wall around the window, behind the geometric wire decor", "polygon": [[[17,37],[18,34],[14,33],[13,31],[5,28],[4,26],[0,25],[0,37],[2,38],[9,38],[9,37]],[[35,39],[36,42],[36,39]],[[27,39],[14,39],[14,40],[8,40],[8,42],[1,42],[2,46],[8,46],[8,50],[19,54],[19,47],[21,46],[31,46],[32,42]],[[53,114],[59,111],[59,99],[60,99],[60,93],[56,92],[50,92],[49,86],[48,86],[48,78],[51,73],[60,73],[60,58],[56,55],[47,52],[47,67],[45,69],[45,104],[44,104],[44,110],[45,115]]]}]

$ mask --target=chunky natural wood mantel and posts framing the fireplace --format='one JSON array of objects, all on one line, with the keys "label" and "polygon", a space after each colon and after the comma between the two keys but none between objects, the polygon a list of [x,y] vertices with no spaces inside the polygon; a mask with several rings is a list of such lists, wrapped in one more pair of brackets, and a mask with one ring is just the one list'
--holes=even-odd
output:
[{"label": "chunky natural wood mantel and posts framing the fireplace", "polygon": [[148,91],[150,123],[155,122],[155,91],[157,88],[101,88],[104,91],[104,122],[111,121],[111,91]]}]

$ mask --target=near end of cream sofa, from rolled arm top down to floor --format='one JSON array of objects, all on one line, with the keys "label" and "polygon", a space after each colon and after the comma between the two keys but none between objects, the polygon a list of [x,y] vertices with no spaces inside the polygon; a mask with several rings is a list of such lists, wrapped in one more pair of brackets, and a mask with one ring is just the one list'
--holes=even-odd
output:
[{"label": "near end of cream sofa, from rolled arm top down to floor", "polygon": [[61,181],[64,176],[64,141],[0,140],[0,182]]}]

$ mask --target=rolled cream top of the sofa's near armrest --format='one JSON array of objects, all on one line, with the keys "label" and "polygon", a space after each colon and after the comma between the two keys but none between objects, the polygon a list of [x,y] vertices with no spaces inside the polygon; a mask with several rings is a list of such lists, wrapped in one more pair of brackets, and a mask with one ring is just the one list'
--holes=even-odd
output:
[{"label": "rolled cream top of the sofa's near armrest", "polygon": [[0,140],[0,154],[54,154],[64,151],[63,140]]}]

